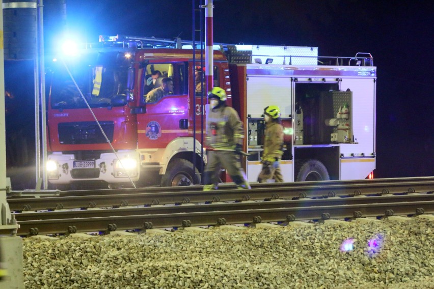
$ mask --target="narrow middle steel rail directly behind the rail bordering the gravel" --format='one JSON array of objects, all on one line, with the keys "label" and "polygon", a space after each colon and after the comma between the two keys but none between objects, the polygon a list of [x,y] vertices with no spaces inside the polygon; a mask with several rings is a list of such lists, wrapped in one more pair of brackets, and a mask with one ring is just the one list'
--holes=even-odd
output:
[{"label": "narrow middle steel rail directly behind the rail bordering the gravel", "polygon": [[[14,213],[15,219],[21,221],[49,220],[49,219],[71,219],[71,218],[96,218],[110,216],[128,215],[157,215],[177,214],[209,211],[242,211],[256,209],[276,208],[300,208],[300,207],[327,207],[358,204],[384,204],[403,202],[434,201],[434,194],[412,195],[386,195],[386,196],[356,196],[356,197],[327,197],[327,198],[305,198],[297,200],[275,199],[270,201],[241,201],[237,203],[210,203],[210,204],[183,204],[180,206],[150,206],[150,207],[124,207],[116,209],[95,209],[95,210],[56,210],[50,212],[23,212]],[[419,210],[420,211],[420,210]],[[416,212],[414,212],[416,213]]]}]

